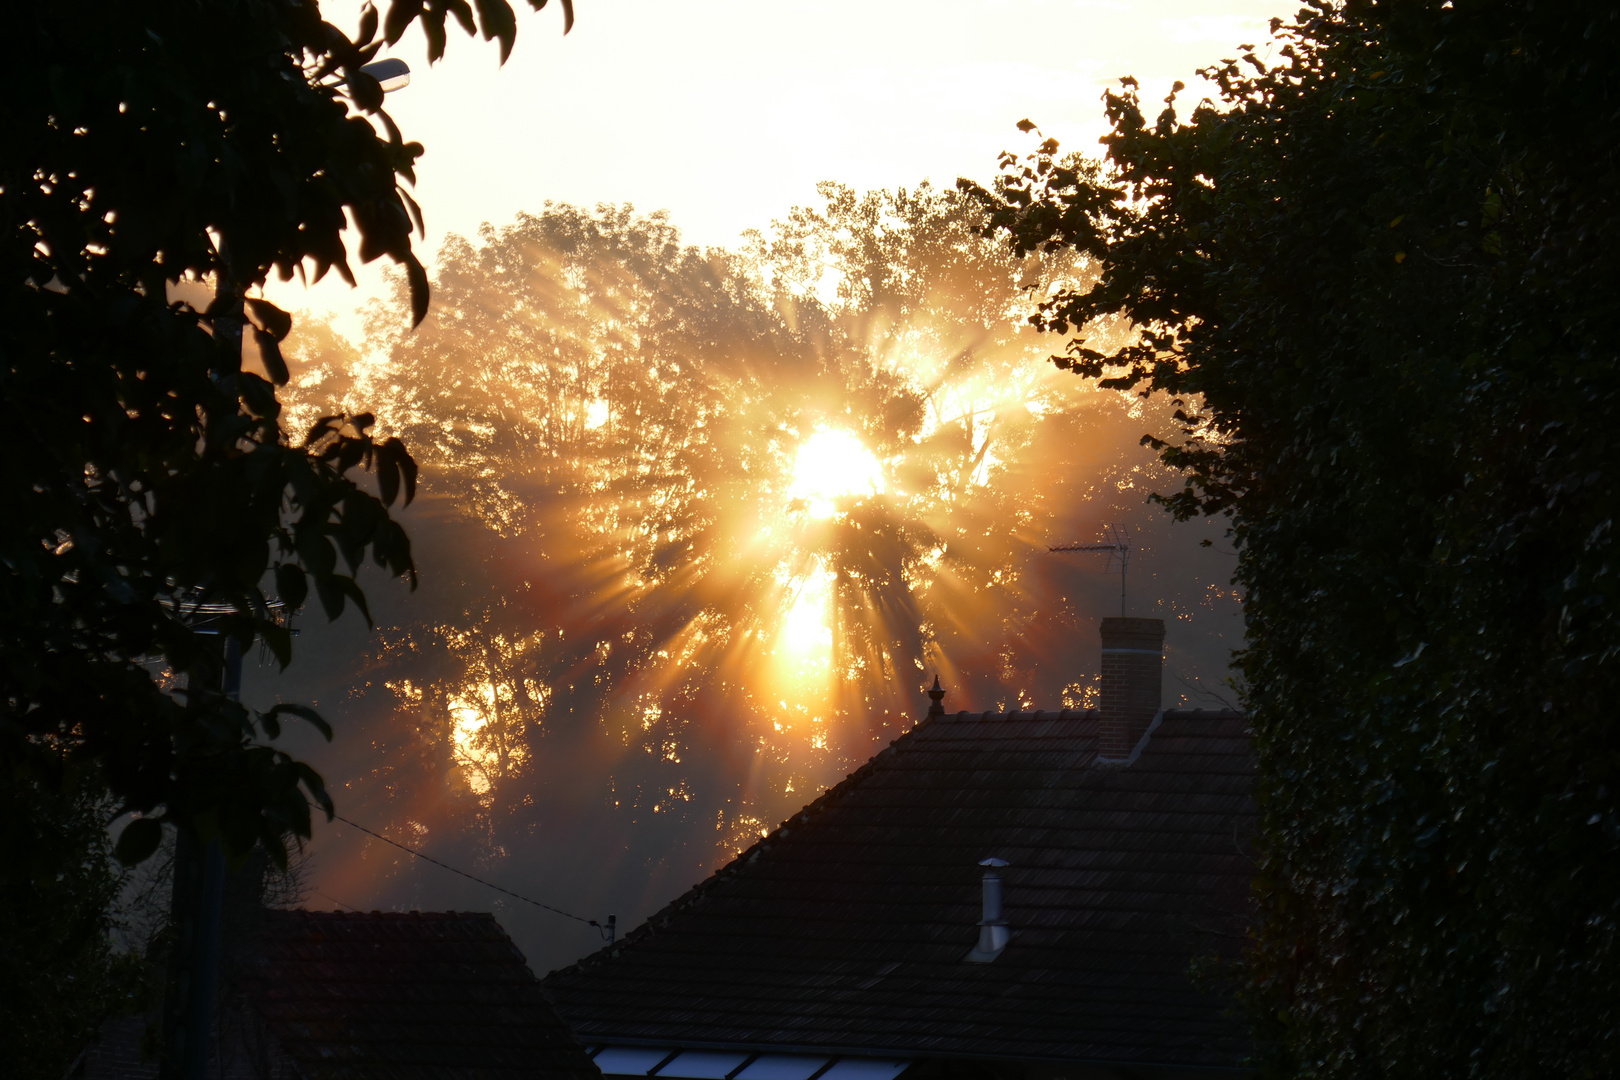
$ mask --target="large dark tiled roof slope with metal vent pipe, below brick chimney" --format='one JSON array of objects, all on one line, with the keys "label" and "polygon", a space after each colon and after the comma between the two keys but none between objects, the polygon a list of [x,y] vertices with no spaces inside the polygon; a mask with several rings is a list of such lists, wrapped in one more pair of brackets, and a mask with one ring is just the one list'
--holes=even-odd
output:
[{"label": "large dark tiled roof slope with metal vent pipe, below brick chimney", "polygon": [[[546,988],[588,1046],[1234,1067],[1243,1022],[1189,967],[1251,912],[1247,725],[1171,711],[1129,764],[1097,729],[928,719]],[[1013,939],[969,963],[987,857]]]}]

